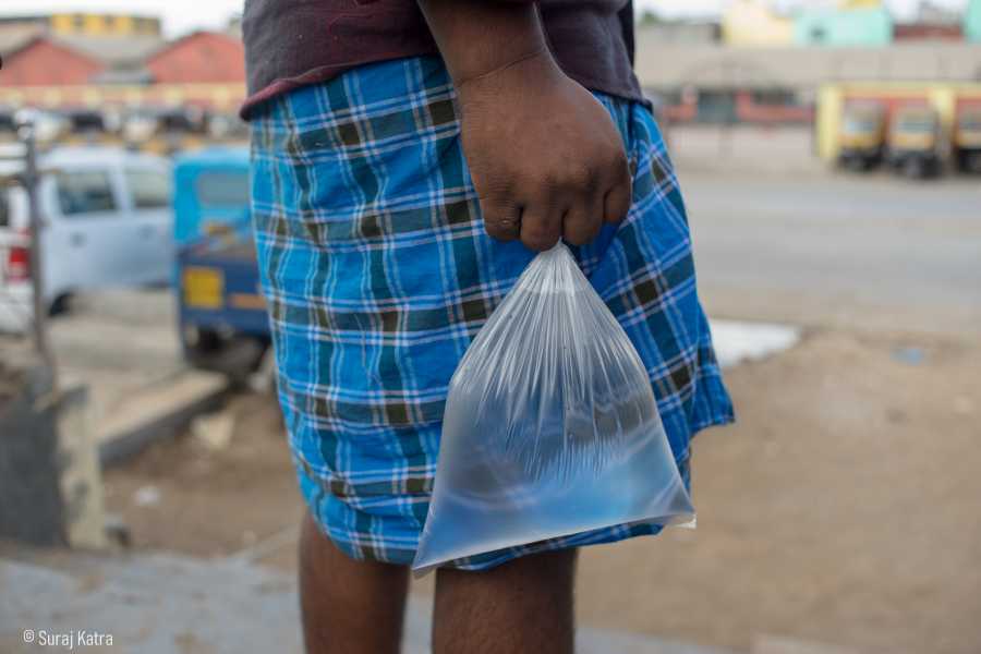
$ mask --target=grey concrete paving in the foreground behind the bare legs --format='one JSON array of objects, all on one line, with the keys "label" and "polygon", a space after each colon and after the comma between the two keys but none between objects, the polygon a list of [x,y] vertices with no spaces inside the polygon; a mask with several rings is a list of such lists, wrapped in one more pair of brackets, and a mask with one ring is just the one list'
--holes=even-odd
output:
[{"label": "grey concrete paving in the foreground behind the bare legs", "polygon": [[[429,651],[432,607],[410,602],[403,652]],[[291,577],[242,559],[75,553],[0,559],[0,651],[50,651],[41,634],[98,634],[104,651],[141,654],[288,654],[301,651]],[[25,630],[32,630],[25,643]],[[584,628],[580,654],[735,654],[728,650]],[[86,647],[86,651],[100,651]]]}]

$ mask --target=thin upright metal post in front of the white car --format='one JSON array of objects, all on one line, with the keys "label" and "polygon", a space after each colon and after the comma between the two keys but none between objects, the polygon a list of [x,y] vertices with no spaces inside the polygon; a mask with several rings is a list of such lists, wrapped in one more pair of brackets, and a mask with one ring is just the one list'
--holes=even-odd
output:
[{"label": "thin upright metal post in front of the white car", "polygon": [[31,290],[33,294],[33,328],[34,349],[41,362],[48,368],[51,376],[51,388],[57,392],[57,375],[55,372],[55,355],[48,340],[48,303],[45,300],[44,279],[44,249],[41,247],[41,234],[44,232],[38,198],[40,173],[37,169],[37,134],[34,117],[26,117],[19,121],[17,135],[24,144],[24,190],[27,193],[27,210],[29,214],[27,234],[31,239],[28,245],[31,252]]}]

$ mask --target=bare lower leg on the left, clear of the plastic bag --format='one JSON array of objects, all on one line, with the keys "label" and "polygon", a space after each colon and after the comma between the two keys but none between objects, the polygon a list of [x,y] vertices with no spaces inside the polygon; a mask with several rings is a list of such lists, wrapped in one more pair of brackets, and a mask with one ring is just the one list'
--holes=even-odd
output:
[{"label": "bare lower leg on the left, clear of the plastic bag", "polygon": [[300,536],[300,609],[307,654],[398,654],[409,569],[355,561],[307,514]]}]

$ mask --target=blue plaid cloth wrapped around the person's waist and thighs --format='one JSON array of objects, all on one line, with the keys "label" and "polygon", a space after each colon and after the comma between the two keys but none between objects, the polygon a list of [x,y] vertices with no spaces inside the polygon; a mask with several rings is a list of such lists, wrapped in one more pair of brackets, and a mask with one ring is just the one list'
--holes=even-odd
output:
[{"label": "blue plaid cloth wrapped around the person's waist and thighs", "polygon": [[[633,206],[573,253],[647,367],[687,481],[691,436],[731,421],[732,408],[657,126],[638,104],[597,98],[635,171]],[[483,230],[438,58],[360,66],[268,102],[253,122],[252,159],[259,269],[301,491],[343,552],[409,564],[449,379],[534,253]],[[455,565],[482,569],[657,531],[621,525]]]}]

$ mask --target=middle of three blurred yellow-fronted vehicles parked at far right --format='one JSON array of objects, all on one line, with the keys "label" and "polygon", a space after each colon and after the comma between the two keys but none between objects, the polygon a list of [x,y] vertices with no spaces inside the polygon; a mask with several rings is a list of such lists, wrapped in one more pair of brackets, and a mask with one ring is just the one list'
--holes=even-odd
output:
[{"label": "middle of three blurred yellow-fronted vehicles parked at far right", "polygon": [[940,114],[929,105],[896,109],[886,143],[889,165],[910,178],[930,178],[941,171]]}]

